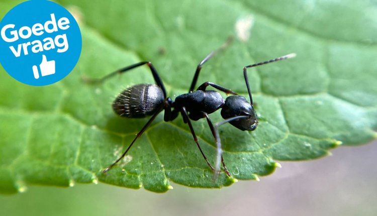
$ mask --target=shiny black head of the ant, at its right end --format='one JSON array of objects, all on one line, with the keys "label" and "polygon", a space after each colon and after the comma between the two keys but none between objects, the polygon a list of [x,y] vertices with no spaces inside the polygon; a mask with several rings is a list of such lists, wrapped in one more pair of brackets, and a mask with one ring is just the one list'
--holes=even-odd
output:
[{"label": "shiny black head of the ant, at its right end", "polygon": [[243,96],[232,95],[227,97],[221,110],[221,116],[224,119],[245,116],[245,118],[229,122],[242,131],[254,131],[258,126],[258,117],[256,116],[254,107]]}]

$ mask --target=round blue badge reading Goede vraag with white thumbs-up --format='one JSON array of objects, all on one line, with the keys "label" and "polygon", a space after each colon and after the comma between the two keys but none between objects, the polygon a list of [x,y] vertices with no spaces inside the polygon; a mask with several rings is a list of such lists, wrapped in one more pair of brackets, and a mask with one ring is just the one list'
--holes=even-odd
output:
[{"label": "round blue badge reading Goede vraag with white thumbs-up", "polygon": [[21,3],[0,22],[0,63],[15,79],[49,85],[63,79],[81,53],[81,33],[73,16],[45,0]]}]

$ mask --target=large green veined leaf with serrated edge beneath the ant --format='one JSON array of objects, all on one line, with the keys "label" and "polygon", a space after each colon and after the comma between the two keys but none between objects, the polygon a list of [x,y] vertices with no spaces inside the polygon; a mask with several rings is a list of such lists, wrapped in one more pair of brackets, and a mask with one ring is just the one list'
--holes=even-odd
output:
[{"label": "large green veined leaf with serrated edge beneath the ant", "polygon": [[[308,160],[329,149],[376,138],[377,4],[372,1],[59,1],[80,23],[83,47],[75,69],[50,86],[27,86],[0,69],[0,192],[28,184],[109,184],[164,192],[169,182],[221,187],[181,117],[160,114],[128,156],[107,175],[147,119],[117,117],[111,102],[127,86],[153,83],[146,67],[88,85],[143,60],[159,71],[174,98],[189,89],[197,64],[230,35],[243,35],[203,67],[212,81],[246,96],[245,65],[295,52],[297,57],[249,71],[257,113],[254,132],[220,127],[233,177],[258,179],[275,160]],[[17,5],[0,3],[2,15]],[[241,29],[236,23],[241,22]],[[250,30],[247,29],[251,25]],[[224,95],[225,96],[225,95]],[[221,121],[219,112],[210,115]],[[215,144],[205,120],[194,122],[211,163]]]}]

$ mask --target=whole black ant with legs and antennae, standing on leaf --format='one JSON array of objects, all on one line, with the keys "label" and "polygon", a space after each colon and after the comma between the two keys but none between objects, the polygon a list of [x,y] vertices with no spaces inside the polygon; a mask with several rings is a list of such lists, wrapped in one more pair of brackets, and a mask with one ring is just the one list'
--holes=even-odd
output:
[{"label": "whole black ant with legs and antennae, standing on leaf", "polygon": [[[224,159],[222,156],[222,148],[221,148],[221,141],[220,135],[217,128],[225,123],[230,123],[234,127],[242,130],[242,131],[254,131],[258,126],[258,117],[253,107],[253,99],[251,96],[251,90],[249,87],[249,81],[247,76],[247,68],[255,67],[279,60],[284,60],[288,58],[293,58],[296,56],[295,53],[291,53],[285,56],[281,56],[278,58],[274,58],[268,61],[259,62],[256,64],[247,65],[243,68],[243,75],[246,82],[247,92],[250,97],[250,102],[247,102],[246,98],[243,96],[238,95],[236,92],[227,89],[223,86],[212,82],[204,82],[201,84],[196,91],[194,91],[195,85],[197,84],[197,80],[199,77],[199,73],[202,69],[204,63],[206,63],[210,58],[215,56],[220,50],[225,49],[231,39],[218,48],[217,50],[211,52],[208,56],[206,56],[197,66],[195,71],[194,78],[191,82],[191,86],[188,93],[178,95],[175,100],[172,100],[170,97],[166,95],[165,87],[163,82],[161,81],[156,69],[154,68],[153,64],[149,61],[139,62],[128,67],[119,69],[113,73],[106,75],[101,79],[88,79],[85,78],[85,81],[88,82],[103,82],[106,79],[113,77],[115,74],[120,74],[127,72],[131,69],[136,67],[147,65],[152,72],[154,81],[156,84],[137,84],[131,86],[121,92],[118,97],[113,102],[113,110],[116,114],[121,117],[126,118],[144,118],[146,116],[152,116],[149,121],[144,125],[144,127],[140,130],[140,132],[136,135],[134,140],[128,146],[126,151],[119,157],[113,164],[108,166],[106,169],[103,170],[103,173],[108,172],[112,169],[122,158],[127,154],[130,150],[132,145],[135,143],[137,138],[139,138],[144,131],[150,126],[153,120],[157,117],[157,115],[164,110],[164,121],[172,121],[177,118],[178,114],[180,113],[183,117],[183,122],[189,125],[190,131],[193,135],[194,141],[197,144],[200,152],[203,155],[203,158],[206,160],[208,166],[214,172],[214,179],[217,178],[220,170],[220,163],[222,163],[225,173],[228,176],[231,176],[230,172],[228,171]],[[212,86],[219,91],[225,92],[228,94],[233,94],[228,96],[225,100],[221,96],[218,91],[215,90],[206,90],[208,86]],[[222,122],[217,124],[213,124],[211,119],[209,118],[208,114],[214,113],[215,111],[221,110],[221,116],[225,119]],[[216,146],[217,146],[217,156],[216,156],[216,164],[215,168],[211,165],[208,161],[206,155],[202,151],[198,138],[195,134],[194,128],[191,124],[191,120],[197,121],[199,119],[206,118],[207,123],[211,129],[212,135],[215,138]]]}]

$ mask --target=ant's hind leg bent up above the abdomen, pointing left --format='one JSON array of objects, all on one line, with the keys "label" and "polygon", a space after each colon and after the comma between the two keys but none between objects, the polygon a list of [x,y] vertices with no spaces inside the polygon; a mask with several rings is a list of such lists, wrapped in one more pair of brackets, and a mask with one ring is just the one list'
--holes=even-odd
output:
[{"label": "ant's hind leg bent up above the abdomen, pointing left", "polygon": [[102,77],[100,79],[91,79],[91,78],[88,78],[88,77],[85,77],[85,76],[82,77],[82,78],[83,78],[83,80],[85,82],[88,82],[88,83],[102,83],[105,80],[107,80],[107,79],[115,76],[116,74],[121,74],[121,73],[127,72],[127,71],[129,71],[131,69],[134,69],[136,67],[142,66],[144,64],[146,64],[149,67],[149,69],[151,70],[153,78],[154,78],[154,81],[162,89],[162,92],[164,94],[164,98],[166,98],[165,86],[162,83],[161,78],[160,78],[160,76],[157,73],[157,70],[154,68],[153,64],[151,62],[149,62],[149,61],[142,61],[142,62],[139,62],[139,63],[136,63],[136,64],[132,64],[130,66],[121,68],[121,69],[119,69],[117,71],[114,71],[114,72],[112,72],[112,73],[110,73],[110,74],[108,74],[108,75],[106,75],[106,76],[104,76],[104,77]]}]

